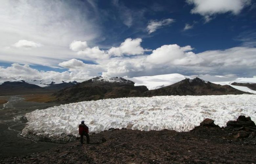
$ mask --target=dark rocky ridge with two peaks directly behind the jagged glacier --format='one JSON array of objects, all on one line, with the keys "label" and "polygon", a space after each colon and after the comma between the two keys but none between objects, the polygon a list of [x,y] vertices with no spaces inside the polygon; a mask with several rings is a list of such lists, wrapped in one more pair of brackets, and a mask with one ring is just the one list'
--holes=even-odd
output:
[{"label": "dark rocky ridge with two peaks directly behind the jagged glacier", "polygon": [[184,79],[175,84],[148,90],[145,86],[134,86],[134,82],[121,77],[96,77],[73,87],[60,90],[53,95],[58,103],[66,104],[120,97],[152,97],[165,95],[223,95],[244,94],[229,85],[218,85],[200,78]]}]

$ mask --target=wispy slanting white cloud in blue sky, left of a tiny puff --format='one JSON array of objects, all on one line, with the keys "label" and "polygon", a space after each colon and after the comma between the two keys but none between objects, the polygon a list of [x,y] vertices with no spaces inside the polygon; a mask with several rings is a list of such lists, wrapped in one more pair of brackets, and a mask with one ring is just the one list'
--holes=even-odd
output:
[{"label": "wispy slanting white cloud in blue sky, left of a tiny puff", "polygon": [[158,21],[158,20],[151,20],[148,23],[147,31],[150,34],[150,33],[155,32],[157,29],[160,29],[160,28],[162,28],[164,26],[169,26],[173,22],[175,22],[175,20],[171,19],[171,18],[160,20],[160,21]]}]

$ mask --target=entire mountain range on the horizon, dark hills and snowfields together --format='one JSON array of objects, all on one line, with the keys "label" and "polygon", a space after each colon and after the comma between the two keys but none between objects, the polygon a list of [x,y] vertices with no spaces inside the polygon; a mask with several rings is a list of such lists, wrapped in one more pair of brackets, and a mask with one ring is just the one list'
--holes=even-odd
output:
[{"label": "entire mountain range on the horizon, dark hills and snowfields together", "polygon": [[133,78],[99,76],[81,83],[54,79],[0,77],[0,95],[54,93],[58,102],[68,103],[135,96],[219,95],[248,92],[256,94],[256,84],[254,84],[256,78],[223,76],[203,76],[203,78],[211,79],[213,82],[200,78],[193,79],[178,73]]}]

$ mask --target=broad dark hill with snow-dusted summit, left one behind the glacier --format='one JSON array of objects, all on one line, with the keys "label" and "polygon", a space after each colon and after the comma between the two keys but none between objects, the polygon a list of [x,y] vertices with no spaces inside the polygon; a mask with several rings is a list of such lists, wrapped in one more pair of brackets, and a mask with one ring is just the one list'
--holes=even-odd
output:
[{"label": "broad dark hill with snow-dusted summit, left one behind the glacier", "polygon": [[134,82],[121,77],[104,79],[95,77],[73,87],[60,90],[53,95],[57,102],[70,103],[118,97],[138,97],[148,91],[145,86],[134,86]]}]

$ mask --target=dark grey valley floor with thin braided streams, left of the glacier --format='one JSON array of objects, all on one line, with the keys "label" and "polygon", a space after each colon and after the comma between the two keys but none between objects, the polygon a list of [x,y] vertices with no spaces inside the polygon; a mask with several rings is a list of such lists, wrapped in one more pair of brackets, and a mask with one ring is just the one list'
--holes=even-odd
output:
[{"label": "dark grey valley floor with thin braided streams, left of the glacier", "polygon": [[0,106],[0,157],[18,156],[41,152],[59,144],[35,142],[20,135],[26,125],[23,116],[36,109],[45,109],[57,104],[26,102],[19,95],[10,96]]}]

